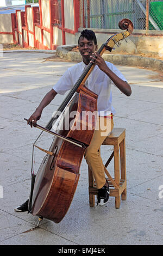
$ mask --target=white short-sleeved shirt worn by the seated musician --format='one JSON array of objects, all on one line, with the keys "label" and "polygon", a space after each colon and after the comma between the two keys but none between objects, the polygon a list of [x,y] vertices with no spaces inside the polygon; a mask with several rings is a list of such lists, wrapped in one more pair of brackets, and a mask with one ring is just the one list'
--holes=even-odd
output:
[{"label": "white short-sleeved shirt worn by the seated musician", "polygon": [[[127,81],[116,66],[110,62],[105,63],[118,77],[123,81]],[[55,92],[64,95],[67,90],[72,89],[78,78],[83,74],[85,66],[84,62],[80,62],[71,68],[68,68],[65,74],[53,87]],[[98,95],[97,110],[98,115],[100,116],[109,115],[110,113],[115,114],[115,109],[112,107],[111,84],[114,84],[112,80],[100,70],[97,65],[85,82],[85,86]]]}]

